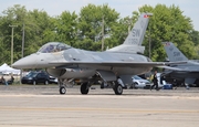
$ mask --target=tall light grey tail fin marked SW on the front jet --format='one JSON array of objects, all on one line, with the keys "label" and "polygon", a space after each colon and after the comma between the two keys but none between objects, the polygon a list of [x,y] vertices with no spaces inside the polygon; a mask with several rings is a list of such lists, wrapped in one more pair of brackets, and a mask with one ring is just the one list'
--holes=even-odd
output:
[{"label": "tall light grey tail fin marked SW on the front jet", "polygon": [[129,53],[144,53],[145,47],[142,46],[146,29],[148,27],[149,17],[151,13],[142,13],[129,32],[128,36],[122,45],[115,46],[107,51],[114,52],[129,52]]}]

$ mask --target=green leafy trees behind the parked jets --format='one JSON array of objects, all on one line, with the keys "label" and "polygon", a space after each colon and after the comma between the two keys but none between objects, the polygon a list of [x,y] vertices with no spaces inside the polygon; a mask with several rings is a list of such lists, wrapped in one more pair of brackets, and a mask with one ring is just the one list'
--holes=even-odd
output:
[{"label": "green leafy trees behind the parked jets", "polygon": [[175,4],[145,4],[125,18],[121,18],[119,12],[108,4],[87,4],[78,14],[75,11],[63,11],[56,17],[51,17],[43,10],[28,11],[24,6],[14,4],[0,14],[0,63],[11,64],[11,25],[14,25],[14,62],[36,52],[48,42],[64,42],[91,51],[102,51],[102,40],[104,49],[119,45],[142,12],[154,14],[143,42],[146,56],[150,56],[153,61],[165,61],[166,53],[161,42],[174,42],[187,57],[199,59],[199,31],[193,29],[191,19],[184,15]]}]

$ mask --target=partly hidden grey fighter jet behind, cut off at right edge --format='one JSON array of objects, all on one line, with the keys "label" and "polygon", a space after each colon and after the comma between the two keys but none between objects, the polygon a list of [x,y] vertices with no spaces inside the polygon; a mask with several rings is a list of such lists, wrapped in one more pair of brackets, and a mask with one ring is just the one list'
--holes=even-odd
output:
[{"label": "partly hidden grey fighter jet behind, cut off at right edge", "polygon": [[164,75],[184,84],[199,85],[199,63],[197,60],[188,60],[171,42],[163,42],[164,49],[170,62],[184,61],[185,64],[164,66]]}]

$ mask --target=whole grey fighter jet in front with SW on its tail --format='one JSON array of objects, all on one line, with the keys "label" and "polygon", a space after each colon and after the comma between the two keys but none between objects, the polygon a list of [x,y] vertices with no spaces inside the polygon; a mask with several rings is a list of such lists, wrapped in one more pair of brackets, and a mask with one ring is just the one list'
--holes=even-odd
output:
[{"label": "whole grey fighter jet in front with SW on its tail", "polygon": [[12,64],[15,68],[46,68],[59,78],[60,94],[66,93],[70,80],[81,83],[81,93],[87,94],[96,81],[112,84],[116,95],[123,94],[123,84],[132,82],[132,75],[143,74],[165,62],[151,62],[144,56],[142,42],[151,13],[142,13],[125,42],[104,52],[75,49],[61,42],[49,42],[36,53]]}]

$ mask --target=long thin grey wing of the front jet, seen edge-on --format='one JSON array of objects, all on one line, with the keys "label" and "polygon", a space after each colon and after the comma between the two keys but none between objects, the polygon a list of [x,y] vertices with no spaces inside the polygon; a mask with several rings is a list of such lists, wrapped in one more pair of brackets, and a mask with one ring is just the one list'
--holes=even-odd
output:
[{"label": "long thin grey wing of the front jet, seen edge-on", "polygon": [[122,62],[122,61],[112,61],[112,62],[86,62],[86,61],[63,61],[63,62],[50,62],[49,64],[53,64],[55,66],[71,66],[71,65],[102,65],[102,66],[128,66],[128,67],[158,67],[158,66],[165,66],[170,64],[184,64],[186,62]]}]

